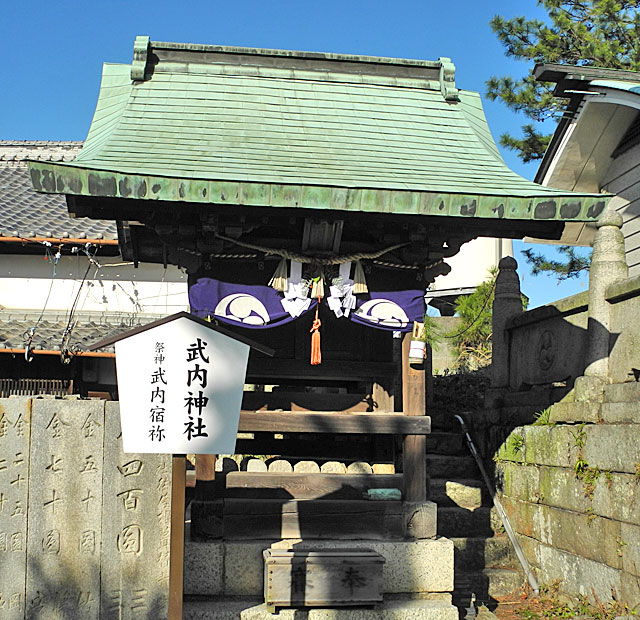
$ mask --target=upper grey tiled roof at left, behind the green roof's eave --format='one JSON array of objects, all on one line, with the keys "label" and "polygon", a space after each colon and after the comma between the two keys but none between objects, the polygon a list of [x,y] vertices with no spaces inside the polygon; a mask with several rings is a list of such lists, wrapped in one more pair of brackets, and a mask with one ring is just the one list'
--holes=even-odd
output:
[{"label": "upper grey tiled roof at left, behind the green roof's eave", "polygon": [[68,162],[82,142],[0,140],[0,236],[117,239],[113,221],[69,217],[64,196],[34,191],[26,160]]}]

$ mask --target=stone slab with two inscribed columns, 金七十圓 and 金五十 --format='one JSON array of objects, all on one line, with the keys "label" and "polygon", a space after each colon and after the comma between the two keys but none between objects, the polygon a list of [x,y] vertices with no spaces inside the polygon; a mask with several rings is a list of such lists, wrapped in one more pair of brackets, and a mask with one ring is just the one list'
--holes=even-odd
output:
[{"label": "stone slab with two inscribed columns, \u91d1\u4e03\u5341\u5713 and \u91d1\u4e94\u5341", "polygon": [[104,403],[32,401],[27,617],[100,617]]}]

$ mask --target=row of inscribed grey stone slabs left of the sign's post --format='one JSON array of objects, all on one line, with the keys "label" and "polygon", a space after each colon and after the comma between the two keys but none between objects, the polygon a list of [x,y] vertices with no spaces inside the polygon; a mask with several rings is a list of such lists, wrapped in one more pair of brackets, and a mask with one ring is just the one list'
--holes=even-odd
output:
[{"label": "row of inscribed grey stone slabs left of the sign's post", "polygon": [[118,403],[0,399],[0,620],[167,618],[171,476]]}]

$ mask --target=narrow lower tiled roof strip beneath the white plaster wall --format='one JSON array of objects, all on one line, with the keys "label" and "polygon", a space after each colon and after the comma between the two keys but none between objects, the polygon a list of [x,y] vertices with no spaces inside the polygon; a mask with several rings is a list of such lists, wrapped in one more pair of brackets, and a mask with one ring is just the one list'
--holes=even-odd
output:
[{"label": "narrow lower tiled roof strip beneath the white plaster wall", "polygon": [[[0,310],[0,353],[2,349],[24,349],[28,332],[36,323],[32,347],[59,351],[67,327],[67,313],[45,312],[38,322],[39,316],[40,313],[33,310]],[[122,334],[158,318],[158,315],[151,314],[79,313],[74,317],[76,325],[71,332],[69,348],[71,351],[86,351],[104,338]],[[105,347],[100,351],[113,353],[114,347]]]}]

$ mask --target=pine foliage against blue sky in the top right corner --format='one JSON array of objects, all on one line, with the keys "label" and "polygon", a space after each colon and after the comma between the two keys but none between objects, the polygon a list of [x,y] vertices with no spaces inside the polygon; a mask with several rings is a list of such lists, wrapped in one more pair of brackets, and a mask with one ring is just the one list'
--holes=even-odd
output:
[{"label": "pine foliage against blue sky in the top right corner", "polygon": [[[537,0],[545,20],[496,15],[491,28],[507,56],[525,61],[640,69],[640,12],[638,0]],[[536,82],[531,73],[522,79],[492,77],[487,96],[534,122],[559,114],[563,102],[553,96],[553,85]],[[523,126],[523,137],[505,134],[500,143],[515,150],[523,161],[540,159],[549,142],[533,124]]]}]

